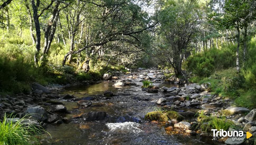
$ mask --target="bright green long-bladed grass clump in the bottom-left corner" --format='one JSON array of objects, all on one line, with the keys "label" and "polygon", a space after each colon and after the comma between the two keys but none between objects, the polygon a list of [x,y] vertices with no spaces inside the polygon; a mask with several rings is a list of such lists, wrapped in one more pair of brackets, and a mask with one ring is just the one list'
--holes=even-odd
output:
[{"label": "bright green long-bladed grass clump in the bottom-left corner", "polygon": [[[10,115],[11,116],[11,115]],[[3,145],[30,145],[38,144],[38,140],[35,137],[36,134],[40,134],[45,130],[34,124],[22,124],[28,119],[25,116],[17,122],[8,122],[7,116],[3,118],[3,122],[0,122],[0,144]]]}]

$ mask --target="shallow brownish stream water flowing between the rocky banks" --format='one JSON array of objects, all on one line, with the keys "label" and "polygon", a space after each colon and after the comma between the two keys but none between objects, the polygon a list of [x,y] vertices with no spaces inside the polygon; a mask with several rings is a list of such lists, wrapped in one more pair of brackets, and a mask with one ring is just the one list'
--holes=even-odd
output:
[{"label": "shallow brownish stream water flowing between the rocky banks", "polygon": [[[157,79],[156,70],[142,70],[132,74],[145,74]],[[211,138],[191,136],[184,131],[173,129],[173,124],[144,120],[144,115],[159,107],[155,102],[164,97],[164,93],[147,93],[141,91],[141,79],[131,79],[128,75],[120,75],[121,80],[131,80],[140,86],[124,86],[115,88],[114,82],[102,81],[96,85],[78,85],[66,88],[62,94],[73,94],[78,98],[95,95],[93,105],[87,108],[77,107],[77,102],[60,100],[70,111],[69,114],[61,114],[71,120],[69,123],[47,126],[46,131],[51,137],[44,134],[43,144],[217,144]],[[154,83],[153,85],[166,87],[177,86],[174,84]],[[97,99],[105,90],[117,94],[112,99]],[[135,98],[134,98],[135,97]],[[140,97],[141,99],[138,100]],[[145,98],[147,98],[145,100]],[[167,102],[166,110],[172,109],[172,102]],[[175,110],[175,109],[174,109]],[[175,111],[197,112],[195,108],[180,108]],[[74,116],[91,112],[105,111],[107,118],[97,121],[84,121],[71,119]],[[186,118],[189,121],[191,117]]]}]

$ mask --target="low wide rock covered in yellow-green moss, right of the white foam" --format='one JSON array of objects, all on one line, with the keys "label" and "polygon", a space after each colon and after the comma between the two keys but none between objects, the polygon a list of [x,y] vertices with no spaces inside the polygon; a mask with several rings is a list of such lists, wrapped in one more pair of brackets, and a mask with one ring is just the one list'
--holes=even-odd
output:
[{"label": "low wide rock covered in yellow-green moss, right of the white foam", "polygon": [[184,117],[175,111],[153,111],[145,115],[146,120],[158,120],[158,121],[182,121]]}]

